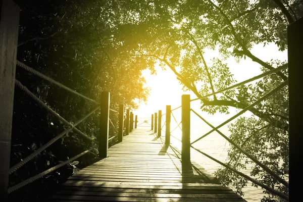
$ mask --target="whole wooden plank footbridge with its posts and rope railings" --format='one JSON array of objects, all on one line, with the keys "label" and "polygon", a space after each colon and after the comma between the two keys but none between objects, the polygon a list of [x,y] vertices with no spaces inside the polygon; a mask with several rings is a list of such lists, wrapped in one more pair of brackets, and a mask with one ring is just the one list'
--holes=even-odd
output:
[{"label": "whole wooden plank footbridge with its posts and rope railings", "polygon": [[[170,143],[171,132],[171,106],[166,106],[166,121],[165,121],[165,141],[162,139],[162,112],[159,110],[158,114],[151,115],[151,128],[141,127],[137,128],[137,117],[130,112],[129,109],[124,110],[124,105],[121,104],[119,112],[110,109],[110,93],[102,92],[100,102],[92,100],[73,89],[55,81],[46,75],[32,69],[31,67],[16,60],[17,54],[17,41],[18,41],[18,22],[19,22],[19,7],[11,0],[4,0],[0,3],[0,154],[2,154],[2,164],[0,165],[0,195],[3,201],[7,201],[9,194],[14,191],[32,183],[35,180],[43,178],[45,175],[55,171],[56,169],[69,164],[75,159],[87,154],[92,149],[97,148],[99,162],[96,162],[82,170],[75,175],[71,176],[67,182],[58,187],[58,190],[49,195],[49,201],[245,201],[239,195],[234,193],[230,188],[223,187],[218,179],[209,174],[203,167],[190,160],[190,149],[197,150],[200,154],[212,159],[216,163],[230,169],[232,172],[240,175],[241,177],[254,182],[256,185],[266,189],[273,195],[289,201],[288,194],[284,194],[257,179],[253,179],[231,167],[222,163],[215,158],[205,154],[203,151],[195,148],[192,144],[200,139],[211,134],[213,131],[218,132],[230,144],[238,148],[239,151],[254,161],[264,171],[269,173],[279,183],[289,188],[289,183],[282,179],[277,173],[268,168],[251,154],[246,153],[241,146],[237,145],[222,132],[219,131],[220,127],[229,123],[231,120],[237,118],[249,108],[252,108],[263,100],[267,99],[274,93],[281,90],[288,85],[288,80],[283,81],[277,87],[264,94],[258,100],[251,103],[249,106],[243,108],[236,115],[215,127],[207,122],[203,117],[198,115],[190,108],[190,102],[194,100],[204,99],[211,95],[225,92],[236,88],[238,86],[255,81],[264,76],[280,72],[287,69],[287,66],[274,68],[273,70],[262,73],[258,76],[252,77],[240,83],[229,86],[225,89],[191,99],[189,95],[182,95],[182,105],[180,123],[182,123],[182,149],[179,151]],[[297,119],[300,117],[303,110],[301,105],[302,91],[298,91],[298,86],[301,84],[301,74],[297,70],[301,67],[300,52],[297,50],[302,44],[302,27],[303,19],[293,23],[289,27],[289,106],[291,116],[289,116],[289,132],[292,134],[294,147],[290,151],[290,156],[295,158],[298,155],[297,150],[302,142],[301,121]],[[74,93],[87,102],[92,103],[94,106],[82,118],[79,118],[75,123],[65,120],[61,115],[56,113],[51,107],[47,106],[40,100],[34,93],[26,88],[20,81],[15,79],[16,66],[30,72],[31,74],[49,81],[53,85]],[[35,149],[29,156],[23,158],[19,163],[10,167],[11,155],[11,134],[12,134],[12,120],[13,120],[13,103],[14,103],[14,89],[15,86],[21,89],[26,96],[31,97],[41,108],[58,118],[66,129],[60,133],[49,138],[48,142],[44,142],[39,148]],[[176,109],[178,109],[176,108]],[[84,119],[89,117],[92,113],[100,109],[100,130],[97,134],[97,140],[92,138],[89,134],[81,132],[76,126]],[[174,109],[174,110],[176,110]],[[117,109],[116,109],[117,110]],[[110,119],[110,112],[119,113],[119,127],[117,134],[109,138],[109,123],[114,127]],[[190,113],[193,112],[201,120],[207,123],[213,129],[205,135],[199,137],[194,141],[190,141]],[[125,116],[126,115],[126,116]],[[175,117],[173,117],[175,119]],[[158,121],[158,125],[157,125]],[[133,128],[133,126],[135,127]],[[125,127],[124,127],[125,126]],[[147,124],[147,127],[148,124]],[[181,128],[181,127],[180,127]],[[116,129],[116,128],[115,128]],[[150,129],[150,130],[149,130]],[[124,132],[125,131],[125,132]],[[68,132],[75,132],[77,135],[92,141],[92,147],[82,153],[69,158],[67,161],[58,163],[52,168],[25,179],[18,184],[9,186],[9,176],[16,172],[19,168],[36,158],[42,151],[55,141],[66,135]],[[109,148],[109,142],[117,137],[117,144]],[[301,157],[301,153],[299,153]],[[300,159],[300,158],[297,158]],[[297,162],[297,163],[296,163]],[[290,166],[292,169],[300,169],[300,161],[292,161]],[[297,164],[297,166],[296,166]],[[202,165],[203,166],[203,165]],[[293,175],[295,176],[295,175]],[[299,178],[293,178],[299,183]],[[293,182],[293,184],[296,184]],[[300,193],[299,186],[292,188],[292,193]],[[297,189],[297,191],[295,190]]]}]

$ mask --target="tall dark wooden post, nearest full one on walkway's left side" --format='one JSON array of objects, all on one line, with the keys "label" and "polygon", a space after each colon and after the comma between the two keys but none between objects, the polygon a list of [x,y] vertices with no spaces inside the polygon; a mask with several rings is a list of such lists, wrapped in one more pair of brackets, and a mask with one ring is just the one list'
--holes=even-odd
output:
[{"label": "tall dark wooden post, nearest full one on walkway's left side", "polygon": [[101,93],[99,158],[108,158],[109,123],[110,123],[110,92]]}]

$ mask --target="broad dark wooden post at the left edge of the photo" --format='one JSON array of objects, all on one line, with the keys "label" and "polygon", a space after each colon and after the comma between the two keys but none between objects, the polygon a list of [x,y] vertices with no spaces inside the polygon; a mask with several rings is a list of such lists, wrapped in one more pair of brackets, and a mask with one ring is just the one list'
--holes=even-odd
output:
[{"label": "broad dark wooden post at the left edge of the photo", "polygon": [[0,2],[0,195],[8,201],[19,7]]}]

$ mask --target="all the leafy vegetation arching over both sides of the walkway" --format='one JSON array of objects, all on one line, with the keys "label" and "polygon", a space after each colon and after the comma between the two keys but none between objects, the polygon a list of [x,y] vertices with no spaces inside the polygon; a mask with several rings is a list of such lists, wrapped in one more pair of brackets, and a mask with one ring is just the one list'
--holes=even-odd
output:
[{"label": "all the leafy vegetation arching over both sides of the walkway", "polygon": [[[253,61],[262,72],[287,67],[288,61],[262,60],[252,53],[256,44],[287,49],[287,25],[303,17],[299,0],[128,0],[17,1],[20,6],[19,61],[98,101],[100,92],[111,92],[111,108],[123,103],[134,109],[134,98],[146,101],[148,89],[140,71],[159,63],[171,70],[197,97],[224,89],[237,81],[226,62]],[[205,60],[208,50],[218,52]],[[249,68],[249,67],[243,67]],[[65,119],[74,122],[93,104],[17,68],[16,78]],[[230,108],[244,109],[287,80],[287,69],[224,93],[200,100],[201,111],[229,114]],[[288,86],[249,110],[229,125],[230,138],[288,181]],[[117,124],[117,117],[111,115]],[[79,125],[90,137],[98,135],[98,113]],[[16,88],[11,166],[41,144],[60,133],[64,125]],[[111,128],[111,135],[114,129]],[[10,186],[91,146],[75,133],[41,153],[10,176]],[[86,154],[79,164],[69,165],[42,180],[13,192],[14,201],[40,199],[78,168],[85,167],[97,153]],[[253,163],[234,146],[226,163],[245,170]],[[254,164],[250,176],[288,194],[288,188]],[[59,174],[60,173],[60,174]],[[227,170],[215,174],[226,186],[244,194],[247,180]],[[258,185],[252,183],[253,186]],[[283,201],[264,190],[262,201]]]}]

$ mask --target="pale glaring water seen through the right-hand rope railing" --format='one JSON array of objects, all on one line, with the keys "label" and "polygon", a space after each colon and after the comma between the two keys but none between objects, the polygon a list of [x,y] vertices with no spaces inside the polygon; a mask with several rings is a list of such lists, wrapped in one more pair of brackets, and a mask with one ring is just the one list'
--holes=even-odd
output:
[{"label": "pale glaring water seen through the right-hand rope railing", "polygon": [[[192,117],[192,116],[191,116]],[[180,120],[176,117],[177,120]],[[164,124],[164,123],[162,123]],[[220,123],[212,123],[214,126],[219,125]],[[171,129],[173,130],[177,126],[176,122],[172,117],[171,121]],[[181,125],[180,125],[181,126]],[[163,128],[165,130],[165,126]],[[201,120],[196,120],[191,118],[191,127],[190,127],[190,141],[199,138],[200,136],[204,135],[205,133],[209,132],[212,128],[205,124]],[[230,135],[227,126],[223,126],[219,129],[223,134],[226,136]],[[181,130],[177,128],[175,131],[172,132],[172,135],[181,139]],[[171,143],[181,150],[181,142],[176,140],[175,138],[171,137]],[[194,147],[200,149],[204,153],[208,154],[209,156],[216,158],[221,162],[225,162],[227,158],[227,151],[229,148],[229,142],[224,139],[220,134],[217,132],[213,132],[206,136],[205,138],[197,141],[193,144]],[[196,150],[191,149],[191,159],[197,162],[199,165],[204,167],[209,173],[214,174],[221,165],[214,162],[213,160],[205,157],[204,155],[198,153]],[[244,174],[250,176],[251,166],[247,166],[247,170],[243,170]],[[231,187],[233,188],[233,187]],[[248,181],[247,186],[242,189],[244,192],[244,196],[242,196],[248,202],[260,202],[261,198],[263,198],[263,191],[264,189],[256,188],[251,186],[250,181]]]}]

